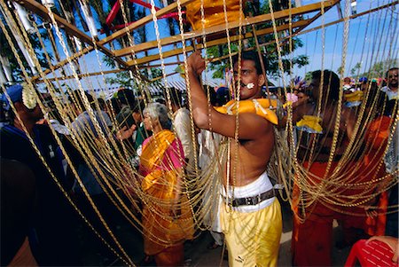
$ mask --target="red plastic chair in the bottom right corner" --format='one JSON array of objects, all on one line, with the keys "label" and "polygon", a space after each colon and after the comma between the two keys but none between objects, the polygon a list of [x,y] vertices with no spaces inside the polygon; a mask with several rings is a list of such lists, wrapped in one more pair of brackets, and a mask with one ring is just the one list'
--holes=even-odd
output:
[{"label": "red plastic chair in the bottom right corner", "polygon": [[359,240],[350,250],[345,267],[356,266],[356,262],[363,267],[398,267],[398,263],[392,262],[393,256],[391,247],[381,241],[366,243],[366,240]]}]

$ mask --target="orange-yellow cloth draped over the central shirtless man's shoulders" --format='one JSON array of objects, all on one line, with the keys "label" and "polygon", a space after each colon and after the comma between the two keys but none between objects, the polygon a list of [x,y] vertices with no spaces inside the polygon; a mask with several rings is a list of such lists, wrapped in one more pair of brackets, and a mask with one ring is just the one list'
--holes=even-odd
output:
[{"label": "orange-yellow cloth draped over the central shirtless man's shoulders", "polygon": [[[237,114],[237,101],[231,100],[224,106],[215,107],[216,111],[222,114]],[[277,107],[277,100],[258,98],[239,101],[239,114],[252,113],[258,114],[273,124],[278,124],[277,114],[270,109]]]}]

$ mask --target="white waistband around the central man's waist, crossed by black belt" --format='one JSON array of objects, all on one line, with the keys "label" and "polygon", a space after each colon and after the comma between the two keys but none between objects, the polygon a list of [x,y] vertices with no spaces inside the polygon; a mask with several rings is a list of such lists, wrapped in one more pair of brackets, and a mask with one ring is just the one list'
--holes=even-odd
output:
[{"label": "white waistband around the central man's waist, crossed by black belt", "polygon": [[[222,191],[223,199],[228,197],[229,199],[234,198],[246,198],[253,197],[261,194],[262,192],[267,192],[273,188],[273,185],[270,182],[270,178],[268,177],[266,171],[262,173],[260,177],[258,177],[254,182],[244,185],[244,186],[228,186],[228,192],[226,193],[224,188]],[[263,200],[257,205],[243,205],[239,207],[233,207],[233,210],[237,210],[239,212],[254,212],[260,210],[262,208],[266,208],[273,203],[275,198],[270,198],[268,200]],[[226,201],[224,201],[226,203]]]}]

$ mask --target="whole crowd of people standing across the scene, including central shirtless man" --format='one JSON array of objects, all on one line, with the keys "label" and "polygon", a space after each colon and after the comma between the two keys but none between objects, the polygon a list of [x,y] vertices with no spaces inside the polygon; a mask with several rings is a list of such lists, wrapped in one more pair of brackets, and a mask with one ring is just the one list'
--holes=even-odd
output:
[{"label": "whole crowd of people standing across the scene, including central shirtless man", "polygon": [[[192,114],[186,107],[188,96],[176,89],[169,90],[163,104],[138,98],[132,90],[119,90],[107,103],[88,92],[83,98],[82,92],[75,90],[69,94],[75,118],[66,127],[56,110],[51,120],[43,121],[37,103],[33,108],[27,106],[24,86],[15,84],[7,89],[7,96],[2,97],[2,117],[7,122],[0,130],[2,265],[83,264],[82,251],[74,244],[82,235],[85,240],[97,237],[87,233],[90,229],[76,231],[76,225],[85,223],[71,202],[99,229],[99,235],[106,235],[107,230],[87,194],[106,218],[121,215],[98,179],[112,177],[113,172],[88,160],[90,156],[101,163],[99,153],[89,153],[84,145],[74,142],[95,140],[109,131],[112,135],[106,138],[129,148],[129,163],[140,175],[143,196],[137,198],[136,207],[141,209],[142,226],[137,227],[142,227],[144,243],[140,263],[184,265],[184,241],[195,236],[195,213],[190,207],[191,196],[183,187],[195,185],[190,181],[209,170],[218,159],[215,153],[219,145],[227,140],[228,160],[220,162],[218,171],[221,186],[216,194],[204,192],[201,196],[215,194],[217,202],[213,205],[216,216],[205,220],[215,239],[210,248],[225,242],[230,266],[276,266],[282,216],[278,189],[267,169],[278,149],[275,130],[286,128],[290,112],[295,125],[295,154],[308,173],[293,179],[293,265],[332,264],[334,219],[344,229],[342,246],[375,235],[397,239],[397,67],[387,71],[384,84],[363,79],[358,87],[351,79],[340,82],[332,71],[318,70],[312,72],[308,85],[300,82],[279,99],[263,97],[267,79],[256,52],[245,51],[240,59],[234,59],[234,85],[239,89],[235,99],[227,88],[209,93],[202,88],[205,60],[200,51],[192,53],[187,67]],[[338,109],[340,101],[345,105]],[[277,112],[280,106],[286,109]],[[335,125],[337,116],[340,120]],[[359,130],[359,124],[364,125],[364,131]],[[71,137],[78,138],[73,142]],[[362,149],[354,148],[348,156],[348,146],[356,137],[364,140]],[[309,153],[310,147],[315,153]],[[342,159],[349,159],[344,167]],[[80,179],[74,176],[74,169]],[[337,180],[329,183],[330,177],[343,176],[342,184],[354,185],[352,188]],[[122,198],[124,192],[120,192]],[[196,188],[187,192],[196,192]],[[332,192],[336,202],[320,192]],[[341,205],[364,194],[372,197],[362,205]]]}]

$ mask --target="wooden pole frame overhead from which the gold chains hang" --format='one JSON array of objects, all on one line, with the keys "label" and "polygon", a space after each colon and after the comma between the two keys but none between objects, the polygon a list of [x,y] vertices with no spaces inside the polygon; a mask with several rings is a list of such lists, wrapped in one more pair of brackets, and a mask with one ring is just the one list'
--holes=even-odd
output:
[{"label": "wooden pole frame overhead from which the gold chains hang", "polygon": [[[186,4],[190,4],[193,1],[194,0],[181,0],[180,4],[181,4],[181,6],[185,6]],[[50,20],[47,9],[42,4],[35,2],[35,0],[16,0],[16,2],[23,5],[25,8],[27,8],[27,10],[29,10],[31,12],[35,12],[35,14],[42,17],[43,20]],[[370,13],[370,12],[375,12],[380,9],[387,8],[389,6],[393,6],[395,4],[398,4],[398,2],[399,1],[395,1],[393,3],[385,4],[378,8],[372,9],[370,11],[353,15],[353,16],[349,17],[349,19],[353,19],[353,18],[362,16],[362,15]],[[286,18],[289,18],[289,16],[297,16],[297,15],[306,14],[306,13],[310,13],[310,12],[317,12],[317,14],[315,14],[308,20],[299,20],[299,21],[293,22],[291,25],[293,33],[291,33],[290,36],[282,38],[280,41],[286,42],[286,40],[288,40],[289,37],[301,35],[302,33],[307,33],[312,30],[317,30],[320,27],[315,27],[313,29],[302,31],[305,27],[308,27],[313,21],[317,20],[317,18],[319,18],[322,15],[321,8],[324,8],[325,9],[324,12],[327,12],[329,9],[332,8],[332,6],[339,4],[339,3],[340,3],[340,0],[329,0],[329,1],[325,1],[324,3],[308,4],[308,5],[303,5],[301,7],[292,8],[290,10],[274,12],[273,16],[274,16],[275,20],[284,20]],[[168,14],[168,12],[175,12],[176,8],[177,8],[176,3],[169,4],[168,6],[158,10],[156,12],[156,17],[157,18],[161,17],[165,14]],[[126,61],[125,59],[123,59],[126,56],[130,56],[133,53],[137,54],[138,52],[148,51],[148,50],[157,48],[158,42],[156,40],[149,41],[146,43],[137,43],[133,46],[123,48],[120,50],[115,50],[115,51],[112,51],[112,50],[106,48],[107,43],[110,43],[117,38],[121,38],[122,36],[131,33],[138,27],[144,27],[146,23],[153,21],[152,14],[146,16],[145,18],[143,18],[141,20],[137,20],[137,21],[129,24],[129,26],[116,31],[112,35],[106,36],[105,38],[103,38],[101,40],[95,40],[95,39],[91,38],[89,35],[86,35],[85,33],[83,33],[81,30],[79,30],[74,25],[71,25],[65,19],[59,17],[57,14],[54,14],[54,18],[57,21],[57,23],[59,23],[59,26],[64,28],[69,35],[74,35],[89,45],[86,48],[84,48],[82,51],[74,53],[74,55],[72,55],[70,57],[70,59],[79,59],[80,57],[84,56],[85,54],[89,53],[90,51],[93,51],[94,47],[98,47],[99,51],[106,54],[106,56],[114,59],[121,66],[121,69],[119,69],[119,70],[113,70],[111,72],[104,71],[103,72],[104,74],[119,72],[119,71],[123,71],[123,70],[129,70],[129,69],[133,69],[133,68],[139,69],[139,68],[159,67],[160,66],[159,64],[148,66],[148,63],[157,61],[160,59],[159,54],[146,56],[146,57],[143,57],[140,59],[133,59],[133,60],[130,59],[129,61]],[[253,18],[246,18],[245,20],[242,21],[241,25],[243,27],[246,27],[246,26],[252,27],[252,26],[260,24],[260,23],[270,22],[271,20],[272,20],[271,14],[268,13],[268,14],[262,14],[262,15],[259,15],[259,16],[253,17]],[[343,21],[343,19],[328,23],[325,25],[325,27],[339,23],[341,21]],[[229,28],[229,30],[233,30],[238,27],[239,27],[239,21],[233,21],[233,22],[229,23],[228,28]],[[288,24],[279,25],[277,27],[277,31],[278,32],[286,31],[288,28],[290,28],[290,26]],[[220,45],[223,43],[227,43],[227,38],[225,37],[225,31],[226,31],[226,27],[224,24],[217,25],[214,27],[207,27],[204,30],[200,29],[197,31],[184,33],[183,41],[184,42],[191,41],[192,43],[195,43],[194,42],[195,39],[196,38],[200,39],[204,35],[204,32],[205,32],[205,36],[215,35],[215,34],[222,35],[222,36],[219,36],[218,38],[216,37],[216,39],[208,41],[207,47],[211,47],[214,45]],[[269,34],[272,34],[273,32],[274,32],[274,29],[272,27],[262,28],[262,29],[256,30],[255,32],[247,32],[246,34],[241,36],[241,39],[253,38],[254,36],[269,35]],[[224,33],[224,36],[223,36],[223,33]],[[239,40],[239,37],[240,36],[237,34],[232,34],[232,35],[230,35],[230,40],[231,40],[231,42],[237,42]],[[162,46],[166,46],[166,45],[170,45],[170,44],[174,44],[174,43],[180,43],[180,42],[182,42],[181,35],[169,36],[166,38],[162,38],[160,40],[160,44]],[[269,44],[269,43],[260,43],[259,46],[263,46],[266,44]],[[194,45],[195,45],[195,47],[192,47],[192,45],[186,46],[185,51],[194,51],[196,49],[204,48],[204,45],[202,43],[195,43]],[[167,59],[168,57],[173,57],[173,56],[177,56],[179,54],[183,54],[183,52],[184,52],[183,49],[164,51],[162,53],[162,58]],[[217,60],[217,59],[213,59],[213,60]],[[65,66],[67,64],[67,62],[68,62],[67,59],[59,61],[58,64],[51,66],[51,69],[46,69],[44,71],[44,74],[45,75],[50,74],[51,72],[58,69],[59,67]],[[175,65],[178,63],[179,62],[173,62],[173,63],[165,62],[165,65]],[[97,72],[97,73],[92,73],[92,74],[87,74],[87,75],[79,75],[79,77],[90,76],[90,75],[100,75],[100,74],[101,74],[101,72]],[[35,80],[38,80],[39,78],[40,78],[39,76],[35,76],[32,79],[35,81]],[[68,79],[68,78],[70,78],[70,77],[63,77],[60,79]],[[55,78],[50,78],[49,80],[52,81],[54,79]]]}]

